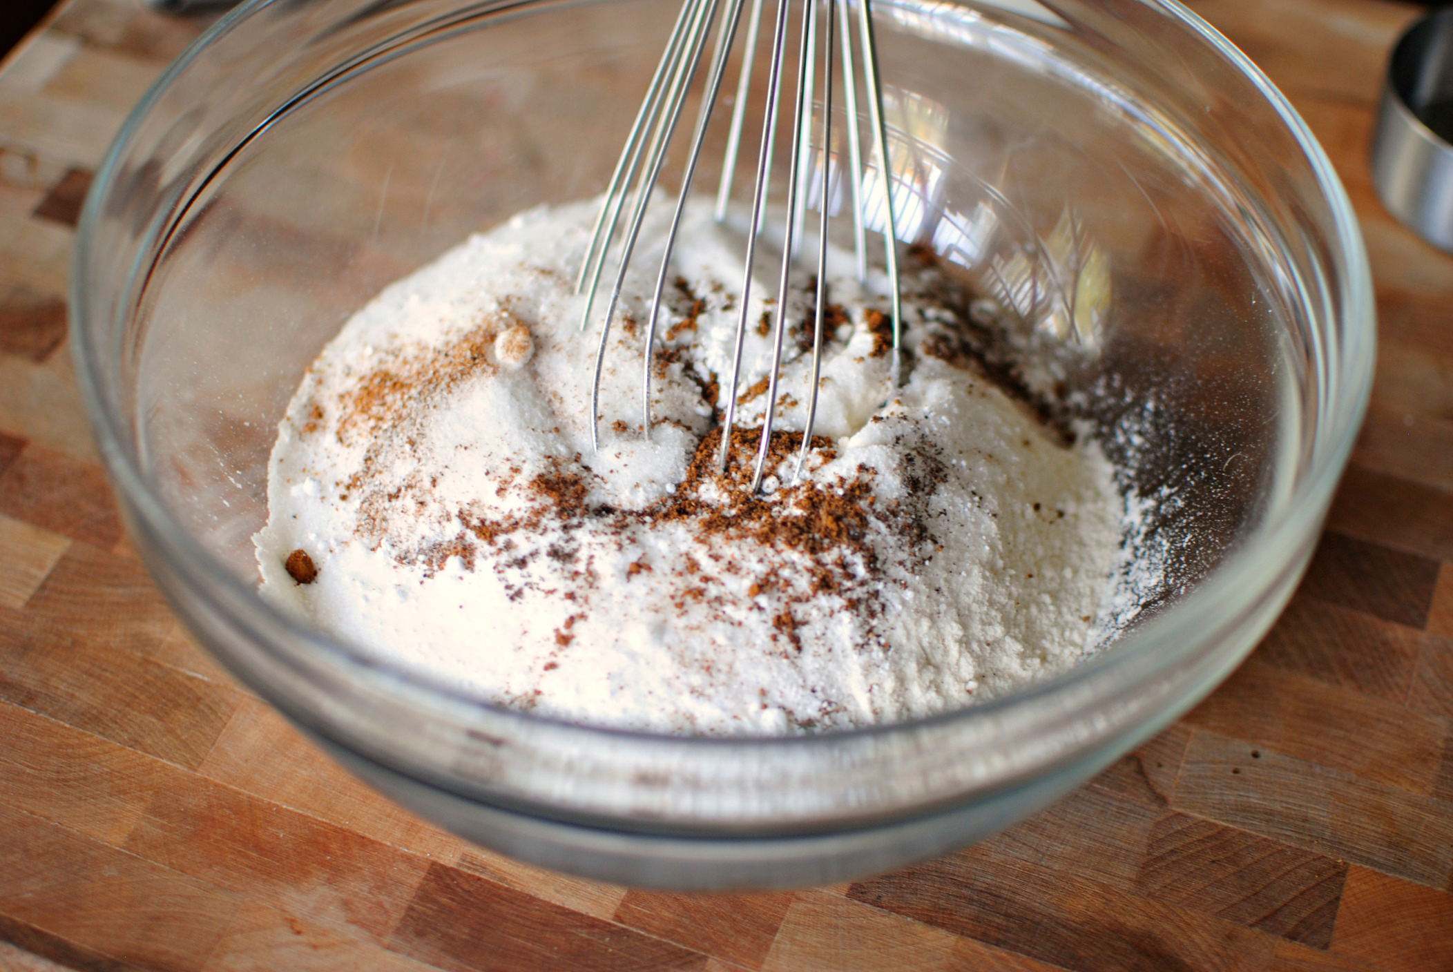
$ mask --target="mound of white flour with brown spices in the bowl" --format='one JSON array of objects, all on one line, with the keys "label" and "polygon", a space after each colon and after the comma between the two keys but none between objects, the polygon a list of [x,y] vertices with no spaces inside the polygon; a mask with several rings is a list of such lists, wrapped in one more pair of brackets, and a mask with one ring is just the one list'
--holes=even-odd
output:
[{"label": "mound of white flour with brown spices in the bowl", "polygon": [[851,256],[831,253],[801,479],[817,282],[793,289],[772,475],[750,495],[776,267],[751,289],[721,474],[740,227],[687,206],[647,439],[644,323],[670,214],[655,206],[607,344],[593,452],[599,331],[578,331],[572,285],[594,206],[469,238],[323,349],[272,453],[256,536],[266,597],[500,703],[661,732],[892,722],[1091,651],[1125,501],[1094,443],[985,378],[968,296],[943,270],[911,262],[895,386],[885,280],[859,285]]}]

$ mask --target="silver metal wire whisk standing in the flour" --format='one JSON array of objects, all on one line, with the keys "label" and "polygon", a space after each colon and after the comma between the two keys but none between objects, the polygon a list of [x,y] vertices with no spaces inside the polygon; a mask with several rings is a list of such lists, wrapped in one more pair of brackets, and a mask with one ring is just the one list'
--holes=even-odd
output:
[{"label": "silver metal wire whisk standing in the flour", "polygon": [[[631,254],[635,248],[638,234],[641,231],[641,224],[645,218],[647,205],[651,199],[651,192],[660,179],[663,164],[665,161],[667,147],[671,137],[676,132],[677,123],[681,118],[681,109],[686,102],[686,93],[692,84],[692,80],[697,71],[702,61],[702,54],[706,46],[706,38],[711,33],[711,26],[716,20],[718,10],[726,4],[725,15],[721,17],[721,26],[716,33],[716,48],[712,55],[711,70],[706,80],[705,96],[702,97],[700,113],[696,121],[696,131],[690,144],[690,154],[686,160],[686,169],[681,176],[681,190],[676,199],[676,212],[673,214],[670,230],[665,240],[665,253],[661,257],[661,270],[657,275],[655,292],[651,299],[651,315],[647,324],[647,339],[645,339],[645,362],[641,384],[641,408],[644,416],[645,434],[651,434],[651,359],[655,346],[655,328],[657,318],[661,307],[661,295],[665,291],[667,267],[671,260],[671,250],[676,244],[677,231],[681,224],[681,214],[686,206],[686,199],[690,193],[692,179],[696,174],[696,164],[702,154],[702,145],[706,138],[706,126],[711,121],[712,110],[716,108],[716,102],[721,97],[722,77],[726,71],[728,55],[731,54],[732,44],[737,36],[737,28],[741,20],[742,6],[745,0],[684,0],[681,12],[676,19],[676,25],[671,29],[670,39],[667,41],[665,51],[661,55],[661,62],[657,65],[655,74],[651,78],[651,84],[647,89],[645,99],[641,102],[641,109],[636,113],[635,122],[631,126],[631,134],[626,138],[625,148],[620,153],[620,160],[616,163],[615,173],[610,177],[610,183],[606,189],[604,203],[602,205],[600,215],[596,219],[594,230],[590,238],[590,247],[586,251],[586,259],[580,269],[580,278],[577,280],[577,292],[586,293],[586,308],[581,315],[581,330],[586,330],[591,320],[591,309],[596,302],[596,291],[600,285],[602,272],[606,264],[607,251],[616,247],[616,237],[620,235],[619,256],[615,275],[615,285],[610,291],[610,299],[606,304],[606,309],[600,324],[600,346],[596,353],[596,370],[591,385],[590,398],[590,414],[591,414],[591,446],[599,447],[599,411],[600,411],[600,373],[604,366],[606,344],[610,336],[610,323],[616,311],[616,304],[620,298],[620,288],[625,280],[626,267],[631,263]],[[756,190],[753,193],[751,205],[751,222],[747,231],[747,247],[745,247],[745,270],[742,273],[742,286],[738,295],[738,307],[741,308],[740,317],[737,320],[737,339],[735,339],[735,355],[732,359],[732,375],[729,397],[726,400],[726,414],[722,429],[722,443],[719,463],[725,471],[729,452],[731,452],[731,430],[732,421],[737,414],[737,394],[738,384],[741,378],[741,355],[742,343],[747,333],[747,318],[748,318],[748,296],[751,291],[751,266],[757,248],[757,237],[763,225],[763,215],[767,205],[767,185],[770,179],[772,169],[772,154],[773,142],[776,139],[776,128],[779,118],[779,103],[782,96],[782,76],[788,67],[786,54],[786,35],[788,35],[788,13],[792,0],[777,0],[774,32],[772,41],[772,61],[767,80],[767,103],[766,103],[766,119],[761,131],[761,148],[757,155],[757,182]],[[873,35],[873,19],[869,0],[856,0],[857,3],[857,26],[862,41],[862,80],[867,94],[867,110],[869,110],[869,125],[872,135],[876,139],[878,150],[878,173],[881,177],[881,193],[885,208],[885,224],[882,228],[883,244],[885,244],[885,262],[888,269],[888,278],[891,282],[891,296],[892,296],[892,328],[894,328],[894,375],[897,376],[898,368],[898,344],[899,344],[899,327],[901,327],[901,305],[899,305],[899,286],[898,286],[898,257],[895,251],[895,221],[894,221],[894,199],[892,186],[889,177],[888,164],[888,135],[883,122],[883,96],[882,96],[882,81],[878,70],[878,45]],[[747,110],[748,89],[751,81],[753,61],[757,48],[757,35],[761,22],[761,4],[763,0],[751,1],[750,25],[747,28],[745,45],[742,49],[742,64],[741,77],[737,84],[737,97],[732,106],[731,128],[726,138],[726,158],[722,167],[721,187],[716,196],[716,219],[721,221],[726,215],[726,203],[731,196],[732,176],[737,164],[737,155],[741,145],[742,122]],[[777,304],[776,304],[776,327],[774,327],[774,347],[772,360],[772,373],[767,386],[767,411],[761,427],[761,442],[757,447],[757,462],[751,479],[751,491],[756,493],[761,487],[761,479],[766,471],[767,455],[772,442],[772,426],[776,418],[777,407],[777,378],[782,370],[782,339],[786,330],[786,302],[788,302],[788,282],[792,272],[793,253],[798,248],[798,240],[801,234],[802,221],[805,216],[808,205],[806,180],[804,179],[804,169],[809,164],[812,157],[812,103],[814,103],[814,86],[818,83],[818,54],[821,48],[821,90],[822,90],[822,112],[821,112],[821,138],[818,142],[818,160],[821,164],[821,199],[819,199],[819,225],[818,225],[818,254],[817,254],[817,311],[815,311],[815,325],[812,336],[812,379],[811,389],[808,395],[808,413],[806,423],[802,433],[802,446],[798,453],[796,474],[802,472],[802,465],[808,456],[812,442],[812,426],[817,417],[817,402],[818,402],[818,384],[821,375],[822,362],[822,321],[825,309],[825,292],[827,286],[822,283],[825,280],[825,264],[827,264],[827,227],[828,227],[828,158],[831,151],[833,138],[833,55],[837,33],[841,32],[841,54],[843,54],[843,93],[846,99],[847,109],[847,141],[849,154],[851,160],[851,173],[849,173],[849,185],[851,187],[853,196],[853,227],[854,240],[857,248],[857,273],[859,279],[865,279],[867,273],[866,260],[866,243],[865,243],[865,192],[863,192],[863,164],[862,164],[862,150],[859,137],[859,122],[857,122],[857,67],[853,58],[853,44],[851,44],[851,19],[849,15],[849,0],[802,0],[802,36],[801,48],[798,55],[798,84],[796,84],[796,108],[792,116],[792,157],[788,174],[788,201],[790,205],[786,206],[786,219],[783,227],[783,244],[782,244],[782,276],[777,289]],[[827,38],[824,44],[818,42],[818,10],[825,10],[827,22]],[[631,196],[631,215],[623,228],[623,234],[618,232],[620,230],[620,219],[625,211],[626,196]]]}]

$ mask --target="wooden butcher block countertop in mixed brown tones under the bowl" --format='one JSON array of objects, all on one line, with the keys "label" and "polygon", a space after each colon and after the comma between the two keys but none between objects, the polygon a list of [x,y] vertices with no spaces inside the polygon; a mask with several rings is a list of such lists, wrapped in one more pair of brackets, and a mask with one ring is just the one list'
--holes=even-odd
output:
[{"label": "wooden butcher block countertop in mixed brown tones under the bowl", "polygon": [[1453,969],[1453,257],[1366,164],[1420,9],[1191,6],[1321,138],[1377,282],[1372,410],[1306,581],[1207,702],[1008,833],[693,896],[420,822],[189,642],[116,519],[64,295],[92,171],[205,23],[62,4],[0,73],[0,969]]}]

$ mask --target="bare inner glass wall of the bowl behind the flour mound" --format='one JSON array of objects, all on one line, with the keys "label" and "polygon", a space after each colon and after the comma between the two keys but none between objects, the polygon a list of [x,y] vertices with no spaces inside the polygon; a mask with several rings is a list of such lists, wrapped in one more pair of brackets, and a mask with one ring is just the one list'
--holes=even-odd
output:
[{"label": "bare inner glass wall of the bowl behind the flour mound", "polygon": [[[205,94],[145,132],[153,155],[119,173],[103,216],[151,234],[118,296],[116,407],[150,490],[243,586],[302,370],[388,282],[520,209],[600,192],[673,17],[663,0],[328,6],[294,15],[286,49],[195,62]],[[1136,498],[1112,649],[1305,475],[1325,395],[1309,295],[1334,222],[1299,202],[1308,169],[1282,160],[1302,150],[1254,86],[1162,12],[1120,6],[875,4],[899,241],[1000,308]],[[231,29],[262,38],[283,16]],[[761,62],[753,86],[748,132]],[[715,192],[725,128],[722,108],[696,192]],[[841,179],[827,196],[841,211]],[[148,211],[157,198],[170,208]]]}]

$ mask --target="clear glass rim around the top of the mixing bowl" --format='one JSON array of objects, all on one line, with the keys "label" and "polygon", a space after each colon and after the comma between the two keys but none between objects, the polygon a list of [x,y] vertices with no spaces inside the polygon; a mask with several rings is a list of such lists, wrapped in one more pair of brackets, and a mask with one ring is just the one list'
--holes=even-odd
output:
[{"label": "clear glass rim around the top of the mixing bowl", "polygon": [[[270,625],[288,632],[294,644],[307,645],[318,652],[327,663],[347,670],[350,676],[373,680],[375,687],[381,687],[395,696],[414,696],[427,699],[436,710],[443,706],[459,716],[481,709],[491,716],[519,721],[522,726],[549,725],[555,729],[586,738],[615,738],[639,740],[652,745],[665,745],[680,751],[724,751],[729,748],[745,748],[757,751],[761,747],[782,747],[790,750],[811,750],[841,744],[844,740],[862,740],[872,737],[899,735],[926,726],[944,726],[955,722],[988,721],[1001,712],[1019,709],[1020,706],[1064,696],[1069,690],[1084,683],[1090,676],[1107,673],[1125,673],[1123,681],[1139,684],[1157,674],[1174,667],[1184,658],[1202,648],[1209,636],[1184,638],[1181,631],[1215,632],[1228,612],[1241,604],[1244,599],[1237,594],[1235,578],[1241,575],[1277,577],[1296,562],[1302,555],[1308,539],[1315,539],[1325,510],[1328,509],[1332,491],[1337,487],[1347,458],[1351,452],[1357,429],[1366,413],[1372,392],[1375,346],[1376,346],[1376,315],[1372,289],[1372,270],[1367,262],[1366,248],[1359,228],[1356,212],[1347,192],[1338,179],[1331,160],[1327,157],[1309,126],[1292,108],[1290,102],[1267,78],[1267,76],[1231,41],[1222,36],[1199,15],[1187,9],[1180,0],[1125,0],[1135,6],[1148,7],[1158,12],[1180,28],[1197,35],[1212,46],[1232,68],[1252,83],[1257,92],[1273,108],[1286,129],[1295,138],[1299,150],[1309,164],[1315,183],[1327,202],[1335,235],[1328,243],[1329,259],[1340,273],[1329,288],[1338,299],[1341,315],[1334,320],[1343,333],[1337,347],[1334,381],[1345,389],[1335,400],[1328,400],[1327,413],[1318,416],[1316,432],[1312,434],[1311,461],[1306,474],[1293,485],[1292,494],[1283,503],[1280,511],[1273,511],[1267,520],[1251,532],[1247,540],[1215,568],[1215,571],[1196,586],[1184,599],[1177,602],[1162,615],[1149,619],[1142,628],[1126,636],[1113,651],[1097,655],[1077,664],[1062,673],[1036,681],[1010,694],[975,703],[962,709],[940,712],[931,716],[908,719],[902,722],[876,724],[854,729],[834,729],[802,735],[754,735],[738,734],[726,737],[700,735],[671,735],[663,732],[648,732],[639,729],[600,726],[571,722],[556,716],[545,716],[522,712],[509,706],[488,702],[465,689],[443,684],[440,680],[402,665],[395,665],[366,654],[363,649],[344,641],[324,635],[301,619],[278,610],[264,602],[256,590],[237,578],[222,567],[221,561],[209,554],[202,543],[195,539],[180,523],[167,513],[166,506],[153,494],[142,474],[137,450],[128,443],[125,423],[113,410],[108,407],[102,388],[103,360],[99,349],[87,337],[86,308],[87,299],[87,270],[93,259],[93,237],[100,212],[105,208],[108,192],[115,185],[128,148],[137,137],[142,121],[157,106],[171,86],[182,78],[187,68],[231,33],[248,17],[278,4],[280,0],[250,0],[235,7],[216,23],[208,28],[167,70],[153,83],[142,99],[128,115],[118,135],[112,141],[102,166],[86,196],[77,225],[76,248],[71,259],[68,312],[70,312],[70,341],[71,353],[78,376],[80,394],[96,434],[102,461],[109,472],[113,488],[121,494],[129,511],[138,519],[134,529],[145,529],[154,536],[164,554],[180,567],[180,575],[189,578],[195,586],[196,577],[203,577],[206,583],[219,586],[228,594],[231,607],[244,606],[243,613],[260,613]],[[519,7],[552,6],[554,0],[481,0],[472,4],[478,13],[497,13]],[[879,0],[888,6],[894,0]],[[987,3],[1000,6],[995,0],[971,0],[972,3]],[[391,38],[394,41],[397,38]],[[142,251],[138,260],[147,254]],[[126,305],[121,308],[124,320],[112,324],[125,324],[135,308]],[[1321,362],[1327,365],[1328,362]],[[1319,450],[1318,450],[1318,446]],[[148,565],[150,567],[150,565]],[[214,607],[219,607],[215,603]],[[230,612],[232,613],[232,612]],[[235,617],[234,617],[235,619]],[[185,617],[183,617],[185,620]],[[246,620],[246,617],[243,619]],[[262,642],[269,652],[278,654],[278,645]],[[1046,706],[1052,709],[1053,706]]]}]

